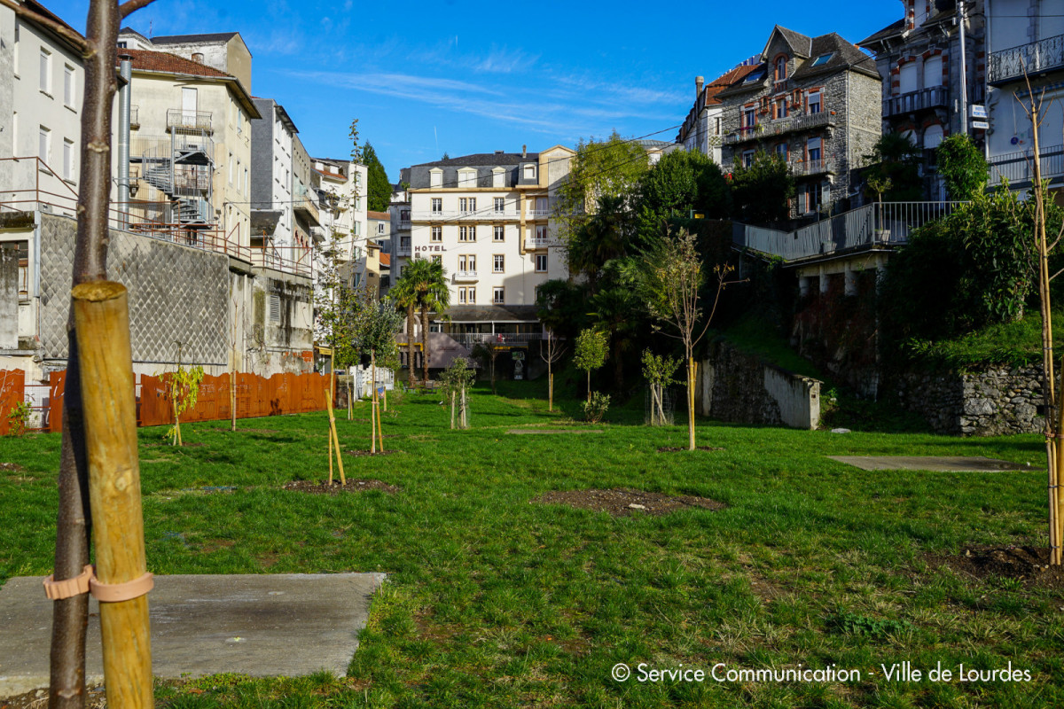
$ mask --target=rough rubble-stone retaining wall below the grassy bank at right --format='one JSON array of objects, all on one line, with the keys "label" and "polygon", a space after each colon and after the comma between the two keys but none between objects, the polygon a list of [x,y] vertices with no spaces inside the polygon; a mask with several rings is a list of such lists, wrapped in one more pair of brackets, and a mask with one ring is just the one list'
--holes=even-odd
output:
[{"label": "rough rubble-stone retaining wall below the grassy bank at right", "polygon": [[902,372],[888,391],[938,434],[1004,436],[1042,431],[1041,370],[990,368],[979,372]]}]

